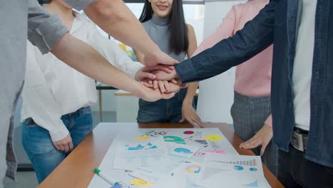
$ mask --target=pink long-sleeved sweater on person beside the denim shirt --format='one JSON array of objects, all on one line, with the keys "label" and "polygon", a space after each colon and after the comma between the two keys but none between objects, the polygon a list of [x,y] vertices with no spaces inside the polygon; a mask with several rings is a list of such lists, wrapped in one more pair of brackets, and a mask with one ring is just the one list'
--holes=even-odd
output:
[{"label": "pink long-sleeved sweater on person beside the denim shirt", "polygon": [[[242,29],[246,22],[252,20],[269,0],[252,0],[245,4],[237,4],[228,12],[223,23],[217,30],[208,36],[196,49],[193,56],[201,51],[211,48],[218,41],[233,36]],[[272,76],[273,46],[254,56],[236,68],[234,90],[242,95],[262,97],[270,95],[270,80]],[[272,126],[272,115],[265,121]]]}]

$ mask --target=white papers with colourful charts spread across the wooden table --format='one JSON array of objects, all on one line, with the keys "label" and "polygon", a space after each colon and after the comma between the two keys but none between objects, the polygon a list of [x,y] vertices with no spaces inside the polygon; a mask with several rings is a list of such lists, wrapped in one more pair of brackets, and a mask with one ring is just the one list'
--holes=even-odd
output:
[{"label": "white papers with colourful charts spread across the wooden table", "polygon": [[[251,156],[254,166],[228,163],[250,158],[238,155],[218,128],[122,130],[118,135],[99,168],[123,188],[265,187],[260,157]],[[95,175],[89,187],[110,184]]]}]

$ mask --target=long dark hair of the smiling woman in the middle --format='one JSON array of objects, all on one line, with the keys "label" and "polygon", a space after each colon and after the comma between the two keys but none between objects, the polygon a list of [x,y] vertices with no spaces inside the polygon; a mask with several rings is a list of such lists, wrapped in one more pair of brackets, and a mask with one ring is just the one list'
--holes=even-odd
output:
[{"label": "long dark hair of the smiling woman in the middle", "polygon": [[[149,21],[152,19],[153,14],[154,11],[152,10],[152,4],[146,0],[139,21],[141,23]],[[187,34],[187,26],[184,18],[183,0],[174,0],[170,16],[170,51],[179,54],[183,51],[187,51],[189,48],[189,37]]]}]

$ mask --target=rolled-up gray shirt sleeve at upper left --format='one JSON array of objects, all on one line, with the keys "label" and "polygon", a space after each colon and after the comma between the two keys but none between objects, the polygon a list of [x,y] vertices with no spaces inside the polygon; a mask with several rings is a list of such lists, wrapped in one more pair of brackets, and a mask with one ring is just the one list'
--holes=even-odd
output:
[{"label": "rolled-up gray shirt sleeve at upper left", "polygon": [[51,15],[36,0],[28,0],[28,40],[48,53],[59,39],[68,32],[58,16]]}]

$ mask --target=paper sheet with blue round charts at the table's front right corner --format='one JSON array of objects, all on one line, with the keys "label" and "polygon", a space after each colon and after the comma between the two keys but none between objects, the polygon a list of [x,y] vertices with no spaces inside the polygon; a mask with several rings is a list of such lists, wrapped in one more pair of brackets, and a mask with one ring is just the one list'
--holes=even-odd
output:
[{"label": "paper sheet with blue round charts at the table's front right corner", "polygon": [[270,187],[260,156],[209,153],[203,167],[200,182],[206,187]]}]

